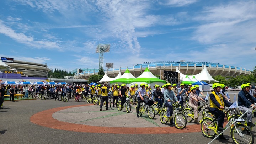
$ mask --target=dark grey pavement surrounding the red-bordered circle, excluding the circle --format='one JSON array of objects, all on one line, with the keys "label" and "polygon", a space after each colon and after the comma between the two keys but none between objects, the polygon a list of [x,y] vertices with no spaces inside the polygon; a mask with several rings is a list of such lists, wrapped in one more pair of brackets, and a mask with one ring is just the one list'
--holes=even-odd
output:
[{"label": "dark grey pavement surrounding the red-bordered circle, excluding the circle", "polygon": [[[236,95],[237,96],[237,95]],[[60,102],[55,100],[5,101],[0,110],[0,144],[76,144],[76,143],[192,143],[206,144],[212,139],[202,132],[179,134],[104,134],[58,130],[39,126],[30,117],[51,108],[81,105],[87,102]],[[253,121],[256,121],[254,118]],[[254,134],[255,133],[255,128]],[[231,144],[228,130],[224,133],[229,141],[215,140],[213,143]]]}]

